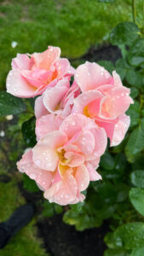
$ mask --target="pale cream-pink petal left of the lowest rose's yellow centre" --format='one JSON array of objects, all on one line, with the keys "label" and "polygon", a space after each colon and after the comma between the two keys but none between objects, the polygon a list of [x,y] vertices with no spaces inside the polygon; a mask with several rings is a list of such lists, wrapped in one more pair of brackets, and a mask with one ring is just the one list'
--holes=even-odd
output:
[{"label": "pale cream-pink petal left of the lowest rose's yellow centre", "polygon": [[41,138],[32,149],[34,163],[44,170],[55,172],[59,161],[56,148],[62,146],[66,141],[66,134],[62,131],[52,131]]}]

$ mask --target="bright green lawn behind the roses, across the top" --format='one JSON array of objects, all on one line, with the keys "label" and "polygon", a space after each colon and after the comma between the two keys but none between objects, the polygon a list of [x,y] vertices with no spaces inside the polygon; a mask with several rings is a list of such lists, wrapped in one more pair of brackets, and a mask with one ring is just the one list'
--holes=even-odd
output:
[{"label": "bright green lawn behind the roses, across the top", "polygon": [[[0,88],[17,52],[43,51],[52,44],[60,46],[64,56],[83,55],[90,45],[107,38],[119,21],[131,20],[130,3],[131,0],[0,0]],[[12,41],[18,43],[14,49]]]}]

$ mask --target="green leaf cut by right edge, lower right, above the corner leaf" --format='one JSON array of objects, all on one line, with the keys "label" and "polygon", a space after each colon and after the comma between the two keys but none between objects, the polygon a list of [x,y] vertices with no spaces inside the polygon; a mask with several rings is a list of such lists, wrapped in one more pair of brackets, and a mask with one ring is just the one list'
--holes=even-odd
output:
[{"label": "green leaf cut by right edge, lower right, above the corner leaf", "polygon": [[132,188],[130,189],[130,201],[137,212],[144,216],[144,189]]}]

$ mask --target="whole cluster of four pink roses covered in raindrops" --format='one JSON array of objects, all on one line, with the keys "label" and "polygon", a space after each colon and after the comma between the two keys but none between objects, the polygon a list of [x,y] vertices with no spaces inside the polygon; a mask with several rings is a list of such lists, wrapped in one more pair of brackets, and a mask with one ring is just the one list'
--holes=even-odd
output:
[{"label": "whole cluster of four pink roses covered in raindrops", "polygon": [[[72,85],[70,80],[74,76]],[[44,197],[60,205],[84,201],[89,181],[107,147],[124,139],[130,125],[125,111],[133,103],[118,74],[86,62],[76,70],[60,49],[20,55],[12,61],[7,91],[35,101],[37,144],[17,166],[34,179]]]}]

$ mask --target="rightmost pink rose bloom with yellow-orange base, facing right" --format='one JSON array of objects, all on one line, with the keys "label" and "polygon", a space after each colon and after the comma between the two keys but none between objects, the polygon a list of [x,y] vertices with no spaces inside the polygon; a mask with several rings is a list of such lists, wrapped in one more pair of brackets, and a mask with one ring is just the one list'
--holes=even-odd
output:
[{"label": "rightmost pink rose bloom with yellow-orange base, facing right", "polygon": [[130,117],[125,114],[133,103],[130,89],[123,86],[118,73],[114,71],[111,76],[95,62],[79,66],[74,78],[82,94],[74,99],[72,113],[95,119],[107,132],[111,146],[121,143],[130,125]]}]

